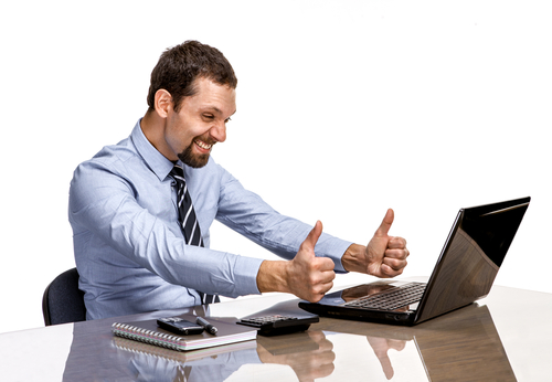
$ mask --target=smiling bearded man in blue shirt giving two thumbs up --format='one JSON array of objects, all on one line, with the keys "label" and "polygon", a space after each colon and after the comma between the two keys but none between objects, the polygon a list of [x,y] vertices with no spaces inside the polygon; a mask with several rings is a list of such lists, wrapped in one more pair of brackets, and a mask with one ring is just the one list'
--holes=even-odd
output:
[{"label": "smiling bearded man in blue shirt giving two thumbs up", "polygon": [[[408,251],[388,235],[392,210],[368,246],[352,244],[322,234],[320,222],[311,229],[280,215],[214,162],[236,85],[216,49],[189,41],[166,51],[130,137],[75,170],[68,214],[88,319],[199,305],[203,294],[284,291],[318,301],[336,272],[403,272]],[[210,250],[214,219],[284,259]]]}]

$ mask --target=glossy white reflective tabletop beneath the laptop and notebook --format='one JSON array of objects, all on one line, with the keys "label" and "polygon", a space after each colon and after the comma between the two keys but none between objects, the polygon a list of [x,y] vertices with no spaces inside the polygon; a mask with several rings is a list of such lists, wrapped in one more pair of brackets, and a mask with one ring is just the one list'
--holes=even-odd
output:
[{"label": "glossy white reflective tabletop beneath the laptop and notebook", "polygon": [[393,327],[321,318],[306,332],[261,337],[206,357],[119,339],[114,321],[194,312],[293,312],[272,294],[189,310],[0,335],[2,381],[548,381],[552,295],[495,286],[475,305]]}]

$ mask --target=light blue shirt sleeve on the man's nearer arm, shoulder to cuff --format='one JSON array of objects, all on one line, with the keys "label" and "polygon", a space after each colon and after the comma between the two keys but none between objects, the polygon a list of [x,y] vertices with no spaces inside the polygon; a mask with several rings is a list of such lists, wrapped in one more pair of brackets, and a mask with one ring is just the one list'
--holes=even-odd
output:
[{"label": "light blue shirt sleeve on the man's nearer arm, shoulder to cuff", "polygon": [[[99,238],[170,284],[229,297],[258,294],[262,259],[185,245],[167,222],[137,202],[140,194],[128,177],[98,160],[76,169],[70,190],[75,236],[89,236],[84,243]],[[95,251],[86,245],[81,250]]]}]

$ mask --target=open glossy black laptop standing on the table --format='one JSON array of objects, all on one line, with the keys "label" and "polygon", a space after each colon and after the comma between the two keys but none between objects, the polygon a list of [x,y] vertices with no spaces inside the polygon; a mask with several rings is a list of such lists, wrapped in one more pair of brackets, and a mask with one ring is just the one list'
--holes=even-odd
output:
[{"label": "open glossy black laptop standing on the table", "polygon": [[[531,198],[461,209],[427,284],[376,282],[326,295],[302,309],[335,318],[416,325],[488,295]],[[410,290],[412,289],[412,290]],[[388,299],[392,296],[394,306]]]}]

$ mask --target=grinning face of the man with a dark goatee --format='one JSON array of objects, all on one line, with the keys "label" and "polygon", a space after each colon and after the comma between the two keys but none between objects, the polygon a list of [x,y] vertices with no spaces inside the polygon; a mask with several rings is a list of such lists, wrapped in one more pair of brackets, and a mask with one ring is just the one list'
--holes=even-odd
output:
[{"label": "grinning face of the man with a dark goatee", "polygon": [[164,139],[170,157],[200,168],[208,163],[213,146],[226,140],[226,123],[236,110],[236,93],[205,78],[197,79],[195,85],[198,92],[182,99],[178,113],[170,108]]}]

